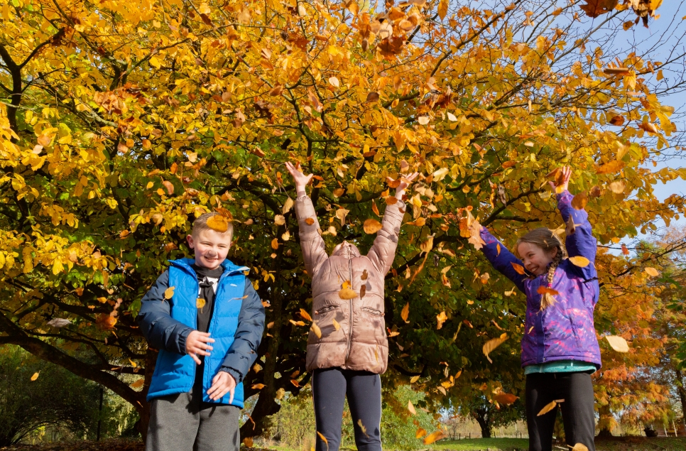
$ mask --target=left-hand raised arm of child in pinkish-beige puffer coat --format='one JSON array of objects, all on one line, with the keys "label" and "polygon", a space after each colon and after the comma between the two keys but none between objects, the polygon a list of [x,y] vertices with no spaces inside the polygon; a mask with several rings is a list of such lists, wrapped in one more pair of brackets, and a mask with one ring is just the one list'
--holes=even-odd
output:
[{"label": "left-hand raised arm of child in pinkish-beige puffer coat", "polygon": [[305,192],[305,186],[312,180],[312,174],[305,175],[301,173],[290,162],[285,163],[285,165],[295,182],[295,192],[297,194],[295,199],[295,216],[298,217],[300,248],[303,249],[305,269],[310,276],[314,276],[315,272],[328,258],[328,255],[324,239],[322,239],[320,234],[321,229],[317,220],[315,206],[312,205],[312,200]]}]

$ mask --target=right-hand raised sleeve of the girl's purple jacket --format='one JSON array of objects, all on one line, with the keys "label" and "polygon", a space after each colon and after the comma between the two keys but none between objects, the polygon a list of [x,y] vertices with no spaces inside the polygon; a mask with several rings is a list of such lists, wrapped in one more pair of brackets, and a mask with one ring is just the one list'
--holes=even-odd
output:
[{"label": "right-hand raised sleeve of the girl's purple jacket", "polygon": [[574,199],[574,196],[569,191],[560,192],[557,195],[557,209],[560,210],[565,224],[569,221],[570,216],[574,221],[575,232],[567,236],[565,247],[570,257],[582,256],[589,259],[591,263],[585,268],[575,266],[575,271],[584,280],[589,280],[598,276],[595,267],[598,241],[593,236],[591,223],[588,221],[588,213],[586,210],[576,210],[572,207],[572,199]]}]

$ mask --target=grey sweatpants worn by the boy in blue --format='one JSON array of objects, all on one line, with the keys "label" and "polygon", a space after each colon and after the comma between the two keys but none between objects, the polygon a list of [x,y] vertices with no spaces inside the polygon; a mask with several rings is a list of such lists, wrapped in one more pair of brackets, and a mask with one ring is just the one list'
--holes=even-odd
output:
[{"label": "grey sweatpants worn by the boy in blue", "polygon": [[203,403],[195,390],[155,398],[146,451],[239,451],[241,409]]}]

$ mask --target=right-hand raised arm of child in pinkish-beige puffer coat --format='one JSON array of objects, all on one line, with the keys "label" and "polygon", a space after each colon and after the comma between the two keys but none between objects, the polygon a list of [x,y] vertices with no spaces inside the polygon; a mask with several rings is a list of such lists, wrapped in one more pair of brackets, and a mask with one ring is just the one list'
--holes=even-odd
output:
[{"label": "right-hand raised arm of child in pinkish-beige puffer coat", "polygon": [[374,264],[374,267],[382,274],[391,271],[391,265],[396,258],[396,249],[398,249],[398,235],[400,234],[400,227],[403,224],[403,216],[405,216],[405,202],[403,202],[403,194],[410,186],[412,180],[415,180],[419,173],[412,173],[407,177],[401,178],[401,183],[396,188],[396,202],[393,205],[387,205],[386,211],[383,212],[383,219],[381,219],[381,229],[376,232],[376,239],[374,245],[369,249],[367,257]]}]

